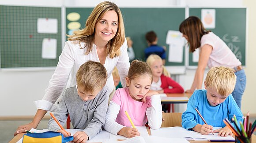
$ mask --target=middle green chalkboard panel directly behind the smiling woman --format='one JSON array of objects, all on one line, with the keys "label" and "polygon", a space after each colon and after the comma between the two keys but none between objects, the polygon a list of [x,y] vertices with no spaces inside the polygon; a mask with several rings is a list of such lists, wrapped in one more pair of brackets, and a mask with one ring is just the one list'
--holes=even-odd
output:
[{"label": "middle green chalkboard panel directly behind the smiling woman", "polygon": [[[66,15],[70,13],[78,13],[80,18],[77,20],[66,20],[67,34],[72,33],[72,29],[68,28],[68,24],[79,22],[81,28],[84,28],[85,22],[93,8],[66,8]],[[184,66],[183,62],[168,62],[169,45],[166,45],[166,35],[168,30],[178,30],[180,23],[185,18],[185,8],[120,8],[124,18],[125,35],[132,38],[133,49],[136,59],[144,58],[144,49],[147,48],[145,34],[154,30],[158,36],[158,45],[164,45],[166,51],[167,66]],[[74,24],[75,25],[75,24]]]}]

